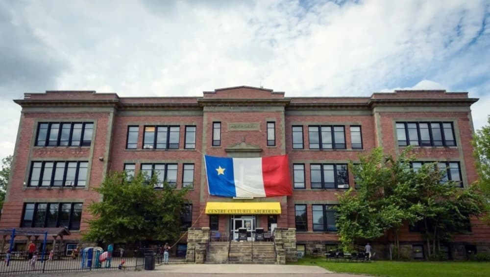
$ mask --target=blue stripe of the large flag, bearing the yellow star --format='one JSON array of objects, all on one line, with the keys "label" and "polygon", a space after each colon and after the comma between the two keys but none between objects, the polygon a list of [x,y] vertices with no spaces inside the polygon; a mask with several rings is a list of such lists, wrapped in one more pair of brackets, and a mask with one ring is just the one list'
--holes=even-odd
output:
[{"label": "blue stripe of the large flag, bearing the yellow star", "polygon": [[236,197],[233,158],[204,155],[209,194],[223,197]]}]

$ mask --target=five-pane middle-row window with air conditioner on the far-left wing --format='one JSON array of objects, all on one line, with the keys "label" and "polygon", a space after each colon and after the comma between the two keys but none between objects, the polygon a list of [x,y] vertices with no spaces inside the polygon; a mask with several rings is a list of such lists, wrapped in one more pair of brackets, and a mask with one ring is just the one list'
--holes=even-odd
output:
[{"label": "five-pane middle-row window with air conditioner on the far-left wing", "polygon": [[85,186],[88,162],[32,162],[29,186]]}]

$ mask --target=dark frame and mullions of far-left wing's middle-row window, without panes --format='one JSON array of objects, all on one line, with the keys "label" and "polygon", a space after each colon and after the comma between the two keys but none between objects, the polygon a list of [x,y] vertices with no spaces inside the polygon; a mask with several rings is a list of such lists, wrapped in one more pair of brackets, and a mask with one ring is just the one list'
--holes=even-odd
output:
[{"label": "dark frame and mullions of far-left wing's middle-row window, without panes", "polygon": [[[74,179],[73,179],[73,181],[71,181],[71,180],[67,181],[69,168],[73,168],[73,167],[69,167],[69,164],[74,163],[74,162],[76,162],[75,174],[73,177]],[[33,174],[33,169],[34,169],[35,163],[41,163],[41,167],[39,170],[39,180],[37,180],[38,184],[32,185],[32,181],[33,181],[32,180],[32,174]],[[50,181],[49,185],[43,185],[46,163],[52,163],[53,164],[53,166],[51,167],[51,177],[49,179],[49,181]],[[59,181],[59,180],[56,180],[56,169],[57,169],[56,165],[58,163],[65,163],[65,166],[63,169],[63,179],[62,179],[61,185],[54,185],[54,183],[56,181]],[[86,163],[87,166],[86,167],[80,166],[82,163]],[[85,180],[79,180],[79,176],[80,176],[79,174],[80,174],[81,168],[87,168],[87,175],[85,176]],[[89,176],[88,161],[31,161],[29,178],[28,178],[28,182],[27,182],[26,186],[27,187],[86,187],[88,176]],[[85,181],[85,185],[79,185],[78,184],[79,181]],[[66,185],[67,182],[73,182],[73,185]]]}]

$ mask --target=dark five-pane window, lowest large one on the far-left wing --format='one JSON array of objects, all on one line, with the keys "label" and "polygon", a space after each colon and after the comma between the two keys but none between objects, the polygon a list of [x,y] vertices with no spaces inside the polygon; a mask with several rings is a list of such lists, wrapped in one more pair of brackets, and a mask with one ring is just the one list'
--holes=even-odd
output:
[{"label": "dark five-pane window, lowest large one on the far-left wing", "polygon": [[80,230],[82,203],[25,203],[21,227]]}]

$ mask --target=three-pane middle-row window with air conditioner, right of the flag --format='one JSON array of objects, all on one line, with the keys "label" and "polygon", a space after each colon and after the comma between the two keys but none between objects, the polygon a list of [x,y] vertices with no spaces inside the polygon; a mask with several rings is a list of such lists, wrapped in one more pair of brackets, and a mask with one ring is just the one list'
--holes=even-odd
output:
[{"label": "three-pane middle-row window with air conditioner, right of the flag", "polygon": [[347,164],[310,164],[311,188],[349,188]]}]

